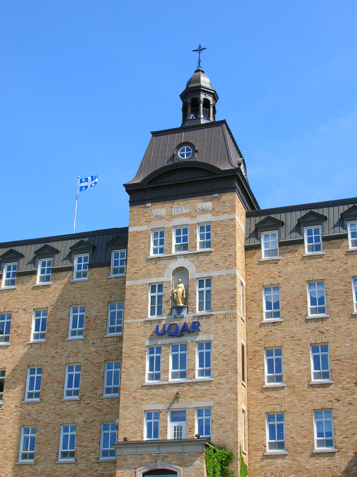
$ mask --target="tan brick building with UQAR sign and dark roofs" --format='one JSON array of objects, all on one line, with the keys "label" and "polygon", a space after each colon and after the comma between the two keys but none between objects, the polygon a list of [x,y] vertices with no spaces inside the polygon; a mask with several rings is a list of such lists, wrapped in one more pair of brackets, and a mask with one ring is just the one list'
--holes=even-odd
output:
[{"label": "tan brick building with UQAR sign and dark roofs", "polygon": [[357,198],[261,210],[201,69],[180,98],[129,227],[0,244],[0,476],[357,476]]}]

